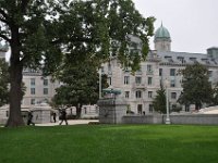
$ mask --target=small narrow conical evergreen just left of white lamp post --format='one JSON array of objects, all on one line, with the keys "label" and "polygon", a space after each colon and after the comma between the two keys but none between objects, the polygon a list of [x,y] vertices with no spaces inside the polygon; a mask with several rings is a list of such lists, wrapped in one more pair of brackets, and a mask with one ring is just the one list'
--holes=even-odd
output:
[{"label": "small narrow conical evergreen just left of white lamp post", "polygon": [[153,101],[154,110],[160,113],[166,114],[166,90],[161,86],[159,90],[157,90],[157,96]]}]

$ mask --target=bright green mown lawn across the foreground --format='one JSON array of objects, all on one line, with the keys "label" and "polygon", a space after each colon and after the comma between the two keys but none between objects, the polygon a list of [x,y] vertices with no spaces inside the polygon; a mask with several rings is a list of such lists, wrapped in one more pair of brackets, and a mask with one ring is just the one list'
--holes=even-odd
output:
[{"label": "bright green mown lawn across the foreground", "polygon": [[218,126],[0,128],[0,163],[217,163]]}]

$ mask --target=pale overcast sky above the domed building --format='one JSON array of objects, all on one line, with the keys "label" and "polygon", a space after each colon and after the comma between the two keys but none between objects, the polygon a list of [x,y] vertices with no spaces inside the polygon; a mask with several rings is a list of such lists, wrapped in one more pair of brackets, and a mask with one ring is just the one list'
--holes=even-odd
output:
[{"label": "pale overcast sky above the domed building", "polygon": [[[133,0],[145,17],[155,16],[155,29],[162,25],[171,36],[171,50],[206,53],[218,47],[218,0]],[[154,49],[154,38],[150,49]]]}]

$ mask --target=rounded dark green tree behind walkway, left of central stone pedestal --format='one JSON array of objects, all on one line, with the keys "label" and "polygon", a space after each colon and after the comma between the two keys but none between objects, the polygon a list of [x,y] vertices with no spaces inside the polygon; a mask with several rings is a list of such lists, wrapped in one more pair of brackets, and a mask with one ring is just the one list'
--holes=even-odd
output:
[{"label": "rounded dark green tree behind walkway, left of central stone pedestal", "polygon": [[[99,74],[95,61],[68,65],[59,74],[62,85],[56,89],[53,102],[59,106],[76,106],[76,117],[81,116],[84,104],[95,104],[99,99]],[[107,88],[107,76],[101,76],[102,88]]]}]

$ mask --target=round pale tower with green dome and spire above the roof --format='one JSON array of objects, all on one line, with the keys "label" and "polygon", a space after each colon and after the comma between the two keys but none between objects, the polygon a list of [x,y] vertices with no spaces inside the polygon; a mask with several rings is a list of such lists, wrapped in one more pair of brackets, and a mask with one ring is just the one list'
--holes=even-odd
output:
[{"label": "round pale tower with green dome and spire above the roof", "polygon": [[161,26],[155,33],[155,50],[157,51],[171,51],[170,33],[166,27]]}]

